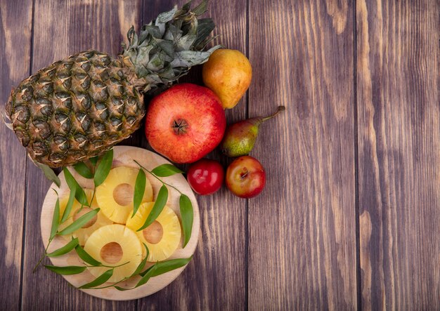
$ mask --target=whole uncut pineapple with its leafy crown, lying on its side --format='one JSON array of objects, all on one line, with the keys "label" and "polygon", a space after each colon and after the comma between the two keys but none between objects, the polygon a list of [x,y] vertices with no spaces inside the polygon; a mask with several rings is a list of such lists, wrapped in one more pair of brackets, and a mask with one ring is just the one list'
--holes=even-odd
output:
[{"label": "whole uncut pineapple with its leafy crown, lying on its side", "polygon": [[161,13],[114,59],[86,51],[23,80],[6,103],[6,124],[30,157],[51,167],[103,154],[141,126],[143,94],[167,87],[219,46],[202,51],[214,29],[199,19],[206,1]]}]

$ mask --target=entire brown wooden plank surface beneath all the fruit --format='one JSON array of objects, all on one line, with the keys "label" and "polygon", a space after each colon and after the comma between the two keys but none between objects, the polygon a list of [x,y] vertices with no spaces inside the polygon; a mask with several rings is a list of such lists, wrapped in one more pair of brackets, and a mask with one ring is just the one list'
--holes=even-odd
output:
[{"label": "entire brown wooden plank surface beneath all the fruit", "polygon": [[[2,0],[1,101],[71,53],[116,55],[131,24],[173,4]],[[439,1],[226,0],[209,8],[219,42],[254,68],[228,123],[287,107],[261,126],[251,153],[266,168],[264,192],[199,196],[198,248],[175,282],[129,302],[93,298],[44,269],[32,273],[49,183],[0,125],[2,307],[439,310]],[[200,83],[200,68],[183,80]],[[142,129],[124,145],[148,147]]]}]

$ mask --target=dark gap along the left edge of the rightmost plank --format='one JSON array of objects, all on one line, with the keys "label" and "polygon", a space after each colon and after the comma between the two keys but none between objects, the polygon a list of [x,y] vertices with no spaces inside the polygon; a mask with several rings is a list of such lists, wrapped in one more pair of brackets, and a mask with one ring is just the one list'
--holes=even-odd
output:
[{"label": "dark gap along the left edge of the rightmost plank", "polygon": [[357,310],[362,310],[361,286],[361,227],[359,224],[359,148],[358,148],[358,36],[356,0],[353,6],[353,98],[354,98],[354,204],[356,216],[356,300]]}]

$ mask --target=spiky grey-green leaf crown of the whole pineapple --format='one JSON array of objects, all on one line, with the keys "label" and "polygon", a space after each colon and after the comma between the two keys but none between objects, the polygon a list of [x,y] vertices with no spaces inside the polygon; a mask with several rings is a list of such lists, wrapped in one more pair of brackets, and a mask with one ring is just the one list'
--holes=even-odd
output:
[{"label": "spiky grey-green leaf crown of the whole pineapple", "polygon": [[190,67],[206,62],[217,48],[203,51],[215,25],[211,18],[198,18],[207,10],[207,1],[191,9],[190,2],[178,9],[160,13],[143,25],[136,34],[132,26],[127,33],[128,46],[122,44],[122,61],[136,73],[135,85],[143,92],[187,74]]}]

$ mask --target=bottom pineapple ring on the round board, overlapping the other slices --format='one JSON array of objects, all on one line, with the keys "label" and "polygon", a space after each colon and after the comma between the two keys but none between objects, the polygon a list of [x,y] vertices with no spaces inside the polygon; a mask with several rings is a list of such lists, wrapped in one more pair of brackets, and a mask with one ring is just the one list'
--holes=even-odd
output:
[{"label": "bottom pineapple ring on the round board, overlapping the other slices", "polygon": [[[136,233],[124,225],[106,225],[99,228],[86,241],[84,250],[103,265],[117,266],[108,282],[129,277],[142,260],[144,247]],[[123,263],[127,263],[122,265]],[[99,277],[109,267],[88,267],[94,277]]]}]

